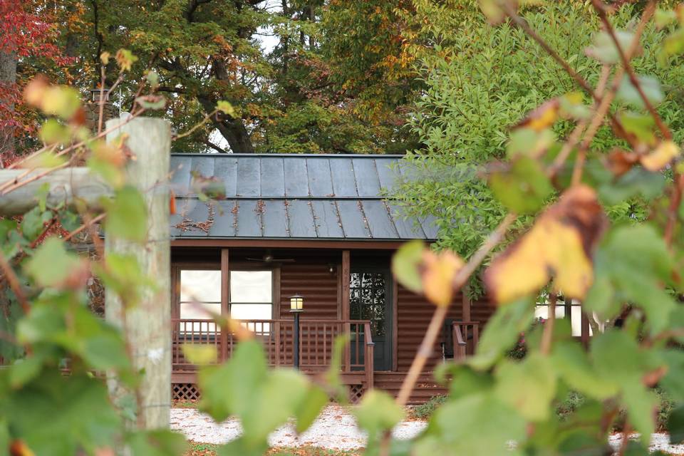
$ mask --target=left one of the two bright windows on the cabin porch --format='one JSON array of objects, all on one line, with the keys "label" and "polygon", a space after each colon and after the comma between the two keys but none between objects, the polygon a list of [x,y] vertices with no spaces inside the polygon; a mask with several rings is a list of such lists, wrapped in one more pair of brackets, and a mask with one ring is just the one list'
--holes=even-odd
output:
[{"label": "left one of the two bright windows on the cabin porch", "polygon": [[[181,269],[179,316],[188,320],[211,320],[209,314],[221,313],[221,271]],[[216,325],[196,321],[185,323],[185,331],[216,331]]]}]

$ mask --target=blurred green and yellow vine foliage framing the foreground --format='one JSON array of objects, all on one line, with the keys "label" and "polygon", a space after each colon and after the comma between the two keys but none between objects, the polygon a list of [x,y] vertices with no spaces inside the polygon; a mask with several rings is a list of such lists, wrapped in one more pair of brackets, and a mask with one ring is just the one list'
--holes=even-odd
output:
[{"label": "blurred green and yellow vine foliage framing the foreground", "polygon": [[[497,229],[467,261],[454,252],[434,252],[415,243],[395,257],[397,279],[435,304],[433,324],[425,335],[425,346],[431,347],[455,293],[492,250],[504,239],[508,244],[484,271],[484,285],[499,307],[475,356],[441,368],[439,376],[448,383],[450,395],[427,430],[411,441],[391,440],[388,432],[403,418],[403,405],[415,386],[411,379],[418,375],[407,377],[396,401],[371,390],[353,410],[369,435],[367,454],[601,454],[611,451],[606,437],[621,422],[623,429],[642,437],[621,447],[619,454],[641,455],[648,451],[648,436],[656,427],[655,388],[682,403],[682,155],[678,136],[667,124],[672,119],[656,110],[665,100],[660,83],[652,73],[637,75],[630,61],[641,42],[644,52],[658,48],[653,55],[660,64],[678,68],[684,17],[658,11],[655,20],[668,28],[642,39],[644,24],[654,13],[652,2],[641,19],[621,30],[611,26],[616,16],[594,3],[606,27],[594,35],[589,50],[600,76],[591,68],[590,78],[567,67],[573,84],[588,93],[589,100],[572,91],[574,87],[553,94],[512,128],[504,141],[505,157],[499,157],[504,160],[482,167],[480,185],[484,189],[486,184],[507,212]],[[490,21],[521,27],[546,46],[518,16],[513,2],[481,4]],[[554,59],[561,66],[566,63],[561,56]],[[125,50],[115,60],[120,73],[135,61]],[[158,83],[153,73],[148,78],[150,86]],[[613,97],[616,103],[611,103]],[[36,81],[26,99],[53,118],[41,131],[48,146],[24,165],[49,173],[87,159],[91,170],[113,187],[114,197],[103,204],[105,212],[77,204],[75,213],[41,194],[21,222],[0,223],[0,269],[7,284],[3,299],[14,317],[4,314],[0,320],[2,356],[15,360],[0,372],[0,448],[24,456],[108,455],[123,447],[133,455],[180,455],[186,450],[182,437],[140,423],[136,392],[145,373],[133,368],[125,328],[120,331],[87,308],[90,271],[119,296],[124,309],[135,306],[153,281],[130,257],[104,252],[101,259],[87,261],[70,252],[63,239],[48,236],[58,223],[71,236],[105,217],[105,232],[145,246],[146,208],[123,172],[128,160],[125,138],[105,144],[84,132],[73,90]],[[162,107],[164,100],[151,94],[138,104],[137,115]],[[229,108],[219,105],[214,110]],[[559,130],[559,123],[571,128]],[[616,139],[616,147],[608,152],[594,146],[601,125],[610,125],[601,135]],[[655,194],[648,184],[652,180],[661,182]],[[14,191],[25,182],[2,183],[0,191]],[[603,204],[606,187],[644,200],[635,206],[638,211],[628,209],[629,217],[611,224]],[[520,214],[527,217],[527,231],[514,224]],[[79,216],[86,222],[81,227]],[[572,337],[569,322],[554,318],[559,296],[581,302],[596,321],[586,350]],[[540,299],[550,306],[550,318],[531,329]],[[217,454],[261,455],[268,451],[269,432],[291,417],[296,430],[304,431],[331,395],[341,396],[336,373],[345,341],[338,343],[336,361],[324,381],[313,383],[291,369],[269,370],[263,348],[248,331],[222,318],[217,323],[237,331],[241,342],[227,363],[200,371],[199,408],[217,421],[237,416],[244,427],[242,436],[219,445]],[[513,360],[508,353],[523,332],[527,351]],[[416,355],[412,374],[425,366],[425,352]],[[185,351],[195,364],[207,364],[214,355],[210,348],[189,346]],[[70,375],[62,375],[66,360]],[[117,378],[131,394],[110,398],[103,375]],[[555,411],[570,391],[584,400],[561,419]],[[667,427],[673,442],[684,440],[682,405],[672,411]]]}]

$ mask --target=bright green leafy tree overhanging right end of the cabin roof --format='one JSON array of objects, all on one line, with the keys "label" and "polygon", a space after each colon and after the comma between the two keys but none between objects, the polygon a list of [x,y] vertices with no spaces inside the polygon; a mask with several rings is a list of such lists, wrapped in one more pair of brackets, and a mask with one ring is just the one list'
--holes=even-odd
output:
[{"label": "bright green leafy tree overhanging right end of the cabin roof", "polygon": [[[626,5],[613,18],[617,26],[625,25],[637,12],[634,6]],[[572,78],[514,24],[497,28],[484,24],[477,2],[461,5],[450,14],[437,14],[433,9],[424,13],[416,20],[439,19],[430,21],[430,39],[425,41],[435,43],[435,47],[423,52],[425,96],[418,100],[410,120],[423,142],[410,162],[423,178],[406,182],[398,196],[408,214],[437,217],[442,228],[440,244],[468,257],[506,210],[497,189],[480,179],[480,173],[493,172],[483,167],[491,160],[504,160],[516,147],[507,132],[520,118],[544,100],[577,88]],[[598,28],[591,6],[548,4],[529,9],[524,17],[581,76],[590,83],[598,81],[601,63],[585,53]],[[660,48],[651,43],[662,41],[664,36],[664,31],[648,26],[644,32],[648,44],[633,65],[638,73],[654,74],[665,88],[673,89],[665,91],[658,111],[670,121],[679,142],[684,139],[684,117],[675,88],[684,73],[681,66],[660,63]],[[631,110],[622,101],[616,109],[627,115]],[[561,120],[554,125],[554,136],[566,135],[571,126]],[[600,128],[591,143],[592,167],[598,169],[596,160],[624,145],[622,138],[611,135],[608,126]],[[571,168],[561,175],[565,179],[570,172]],[[626,179],[642,180],[643,192],[620,192],[623,181],[606,182],[601,187],[601,199],[608,206],[608,214],[613,219],[645,219],[648,212],[643,203],[659,195],[664,181],[651,175],[629,175]]]}]

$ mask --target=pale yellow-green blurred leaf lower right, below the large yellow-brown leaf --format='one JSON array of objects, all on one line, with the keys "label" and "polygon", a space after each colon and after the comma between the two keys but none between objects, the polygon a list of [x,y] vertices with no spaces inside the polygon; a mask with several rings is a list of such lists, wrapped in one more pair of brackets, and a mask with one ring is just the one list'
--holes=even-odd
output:
[{"label": "pale yellow-green blurred leaf lower right, below the large yellow-brown leaf", "polygon": [[549,418],[549,405],[556,395],[556,373],[548,357],[532,353],[517,363],[499,363],[496,378],[499,400],[518,410],[527,420]]}]

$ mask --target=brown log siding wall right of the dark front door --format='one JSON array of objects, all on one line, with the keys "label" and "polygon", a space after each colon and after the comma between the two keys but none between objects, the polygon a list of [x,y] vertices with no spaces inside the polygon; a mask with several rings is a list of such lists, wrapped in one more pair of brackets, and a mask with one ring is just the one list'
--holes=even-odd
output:
[{"label": "brown log siding wall right of the dark front door", "polygon": [[[411,366],[413,357],[420,342],[423,341],[427,326],[430,324],[430,318],[435,311],[435,306],[430,304],[423,298],[412,291],[405,289],[403,286],[398,286],[398,303],[397,303],[397,371],[405,372]],[[481,323],[482,326],[492,315],[494,309],[487,304],[487,301],[473,301],[472,303],[472,319]],[[454,318],[460,320],[461,318],[461,296],[457,296],[449,310],[447,318]],[[437,338],[435,348],[432,351],[432,356],[427,362],[423,371],[432,371],[435,364],[442,360],[442,336]]]}]

